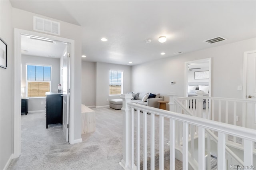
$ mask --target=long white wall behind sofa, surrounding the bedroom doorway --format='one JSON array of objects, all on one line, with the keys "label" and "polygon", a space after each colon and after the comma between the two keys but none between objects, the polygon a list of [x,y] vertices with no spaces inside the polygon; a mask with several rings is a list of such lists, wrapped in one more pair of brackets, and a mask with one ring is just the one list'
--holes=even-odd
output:
[{"label": "long white wall behind sofa, surrounding the bedroom doorway", "polygon": [[[212,97],[231,97],[242,99],[243,53],[256,48],[256,39],[220,45],[200,51],[184,53],[156,61],[132,66],[132,90],[149,91],[166,96],[177,92],[184,96],[185,62],[212,58]],[[170,81],[176,84],[170,85]]]}]

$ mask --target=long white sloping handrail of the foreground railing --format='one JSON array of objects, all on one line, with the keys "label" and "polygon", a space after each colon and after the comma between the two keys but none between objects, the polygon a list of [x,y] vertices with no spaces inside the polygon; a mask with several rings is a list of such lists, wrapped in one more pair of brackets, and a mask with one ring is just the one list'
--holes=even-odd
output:
[{"label": "long white sloping handrail of the foreground railing", "polygon": [[[176,100],[180,104],[180,106],[183,106],[180,101]],[[233,136],[237,136],[240,138],[244,138],[250,141],[256,142],[256,130],[245,128],[245,127],[238,127],[235,125],[230,125],[222,122],[212,121],[208,119],[203,119],[200,117],[194,117],[191,115],[184,115],[180,113],[175,113],[172,111],[166,111],[162,109],[157,109],[154,107],[147,107],[144,105],[139,105],[136,103],[127,103],[128,107],[140,109],[149,113],[154,113],[155,115],[160,115],[163,117],[167,117],[170,119],[174,119],[177,121],[185,122],[191,125],[196,125],[198,127],[203,127],[206,129],[215,130],[218,132],[222,132],[224,134],[230,134]],[[186,107],[182,108],[184,110],[187,110]],[[188,110],[187,110],[188,111]],[[189,113],[189,111],[188,111]]]}]

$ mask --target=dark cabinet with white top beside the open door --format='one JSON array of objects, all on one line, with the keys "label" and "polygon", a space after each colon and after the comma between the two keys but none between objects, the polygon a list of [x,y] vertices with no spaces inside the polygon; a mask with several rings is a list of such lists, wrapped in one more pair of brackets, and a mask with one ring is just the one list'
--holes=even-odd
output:
[{"label": "dark cabinet with white top beside the open door", "polygon": [[46,128],[54,123],[62,123],[62,94],[46,92]]}]

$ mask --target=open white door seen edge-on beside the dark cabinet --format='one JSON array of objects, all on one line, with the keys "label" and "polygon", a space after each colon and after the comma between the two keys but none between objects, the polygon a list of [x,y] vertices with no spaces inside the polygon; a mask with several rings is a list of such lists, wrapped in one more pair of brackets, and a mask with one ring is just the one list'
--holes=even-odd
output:
[{"label": "open white door seen edge-on beside the dark cabinet", "polygon": [[70,96],[70,44],[67,44],[66,55],[63,57],[62,67],[62,91],[63,91],[63,119],[62,131],[69,141],[69,96]]}]

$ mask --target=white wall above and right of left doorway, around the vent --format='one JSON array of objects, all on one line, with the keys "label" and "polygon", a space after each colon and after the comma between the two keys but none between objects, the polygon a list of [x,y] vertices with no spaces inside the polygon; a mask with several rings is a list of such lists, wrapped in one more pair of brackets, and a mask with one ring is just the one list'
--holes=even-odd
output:
[{"label": "white wall above and right of left doorway, around the vent", "polygon": [[[75,41],[75,58],[71,59],[71,62],[74,61],[74,72],[70,73],[71,81],[74,82],[75,87],[74,91],[71,91],[74,94],[74,98],[71,99],[74,101],[74,139],[81,139],[81,51],[82,51],[82,28],[81,26],[76,26],[74,24],[69,24],[67,22],[62,22],[60,20],[55,20],[53,18],[48,18],[46,16],[41,16],[31,12],[26,12],[24,10],[19,10],[12,8],[12,26],[13,28],[19,28],[23,30],[33,31],[33,16],[38,16],[41,18],[46,18],[56,22],[60,22],[60,37],[68,38]],[[4,15],[6,16],[6,15]],[[12,30],[12,29],[10,29]],[[46,34],[46,33],[44,33]],[[51,35],[51,34],[50,34]]]}]

